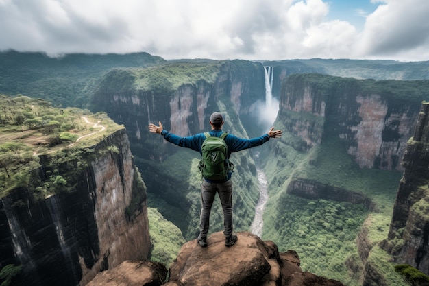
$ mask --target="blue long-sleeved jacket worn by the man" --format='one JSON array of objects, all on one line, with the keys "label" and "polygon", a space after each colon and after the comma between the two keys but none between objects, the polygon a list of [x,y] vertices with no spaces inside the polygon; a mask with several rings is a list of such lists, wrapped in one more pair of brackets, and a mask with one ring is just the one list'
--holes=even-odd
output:
[{"label": "blue long-sleeved jacket worn by the man", "polygon": [[[223,132],[222,130],[211,130],[209,133],[211,136],[219,137]],[[198,151],[199,154],[202,155],[201,145],[203,145],[204,140],[206,140],[206,136],[204,136],[204,133],[198,133],[193,136],[181,137],[170,133],[167,130],[162,130],[161,135],[164,136],[164,139],[169,141],[170,143],[173,143],[180,147],[190,148],[192,150]],[[230,158],[231,153],[233,152],[238,152],[241,150],[262,145],[263,143],[269,141],[269,136],[268,134],[264,134],[260,137],[256,137],[253,139],[244,139],[228,133],[224,140],[226,145],[228,146],[228,158]],[[231,175],[231,173],[228,174],[227,180],[231,178]],[[210,180],[206,181],[211,182]]]}]

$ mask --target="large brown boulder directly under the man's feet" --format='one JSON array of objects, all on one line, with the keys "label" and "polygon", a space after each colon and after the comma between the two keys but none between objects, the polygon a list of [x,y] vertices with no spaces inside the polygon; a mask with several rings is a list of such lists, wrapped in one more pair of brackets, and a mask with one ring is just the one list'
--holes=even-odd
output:
[{"label": "large brown boulder directly under the man's feet", "polygon": [[219,232],[208,237],[207,248],[196,240],[185,243],[165,285],[343,285],[302,272],[296,252],[279,253],[275,243],[252,233],[238,233],[238,241],[230,248],[224,242]]}]

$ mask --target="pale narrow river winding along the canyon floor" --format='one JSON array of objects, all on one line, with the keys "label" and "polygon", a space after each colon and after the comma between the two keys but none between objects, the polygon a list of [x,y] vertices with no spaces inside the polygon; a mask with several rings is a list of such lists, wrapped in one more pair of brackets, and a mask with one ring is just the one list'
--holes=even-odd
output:
[{"label": "pale narrow river winding along the canyon floor", "polygon": [[265,172],[262,169],[256,168],[259,182],[259,200],[255,207],[255,218],[250,226],[254,235],[262,235],[262,227],[264,226],[264,208],[268,200],[268,186]]}]

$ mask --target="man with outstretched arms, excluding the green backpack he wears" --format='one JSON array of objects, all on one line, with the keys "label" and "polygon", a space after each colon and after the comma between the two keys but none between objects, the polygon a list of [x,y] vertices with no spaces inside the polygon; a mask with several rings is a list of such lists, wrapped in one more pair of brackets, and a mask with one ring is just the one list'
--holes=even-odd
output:
[{"label": "man with outstretched arms, excluding the green backpack he wears", "polygon": [[[209,132],[210,136],[221,136],[223,117],[220,112],[214,112],[210,116],[210,126],[212,130]],[[192,150],[198,151],[202,154],[201,145],[206,140],[204,133],[195,134],[193,136],[181,137],[175,134],[169,133],[167,130],[162,128],[161,122],[159,126],[153,123],[149,124],[149,131],[152,133],[161,134],[165,140],[178,145],[180,147],[191,148]],[[272,127],[267,134],[254,139],[238,138],[232,134],[228,134],[224,141],[228,146],[228,158],[231,153],[245,150],[247,148],[256,147],[269,141],[270,138],[280,138],[282,136],[282,130],[274,130]],[[207,246],[207,233],[209,227],[210,211],[212,208],[215,195],[218,193],[219,199],[221,200],[223,209],[223,224],[225,230],[225,246],[232,246],[237,241],[237,235],[233,231],[232,227],[232,182],[230,180],[232,171],[228,171],[228,175],[223,180],[208,180],[204,178],[201,186],[201,213],[199,221],[199,246]]]}]

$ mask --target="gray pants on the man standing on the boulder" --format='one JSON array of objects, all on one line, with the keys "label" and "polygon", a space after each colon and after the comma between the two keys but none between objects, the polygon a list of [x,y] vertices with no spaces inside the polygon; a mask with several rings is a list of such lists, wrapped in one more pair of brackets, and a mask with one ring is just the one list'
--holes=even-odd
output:
[{"label": "gray pants on the man standing on the boulder", "polygon": [[210,221],[210,211],[216,193],[219,194],[223,209],[223,233],[228,237],[232,233],[232,182],[228,180],[222,183],[211,183],[203,180],[201,187],[201,214],[199,217],[199,235],[206,237]]}]

